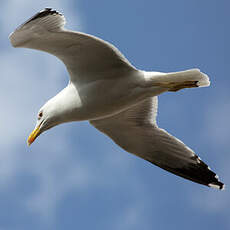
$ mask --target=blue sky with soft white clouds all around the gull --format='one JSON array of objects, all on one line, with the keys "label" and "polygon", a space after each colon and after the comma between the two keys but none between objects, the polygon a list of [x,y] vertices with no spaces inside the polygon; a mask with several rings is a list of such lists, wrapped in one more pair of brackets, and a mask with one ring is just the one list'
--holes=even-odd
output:
[{"label": "blue sky with soft white clouds all around the gull", "polygon": [[[8,35],[52,7],[68,29],[111,42],[139,69],[200,68],[211,86],[159,97],[158,124],[226,184],[217,191],[133,156],[86,122],[42,134],[39,108],[68,83],[55,57],[11,47]],[[230,229],[227,0],[3,0],[0,9],[0,230]]]}]

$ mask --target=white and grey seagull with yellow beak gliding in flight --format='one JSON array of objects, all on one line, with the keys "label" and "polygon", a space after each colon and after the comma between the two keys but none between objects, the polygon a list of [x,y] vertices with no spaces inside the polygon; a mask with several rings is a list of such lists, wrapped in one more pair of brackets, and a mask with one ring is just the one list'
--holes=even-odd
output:
[{"label": "white and grey seagull with yellow beak gliding in flight", "polygon": [[67,30],[65,23],[63,14],[45,8],[9,36],[13,47],[56,56],[70,76],[68,85],[39,110],[28,145],[56,125],[88,120],[127,152],[222,190],[224,184],[208,165],[156,122],[158,95],[209,86],[208,76],[199,69],[172,73],[138,70],[112,44]]}]

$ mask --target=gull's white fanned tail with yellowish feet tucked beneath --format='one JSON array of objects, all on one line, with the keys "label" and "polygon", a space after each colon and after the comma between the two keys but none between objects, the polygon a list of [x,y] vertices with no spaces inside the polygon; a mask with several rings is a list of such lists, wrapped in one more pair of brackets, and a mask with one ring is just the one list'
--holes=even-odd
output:
[{"label": "gull's white fanned tail with yellowish feet tucked beneath", "polygon": [[209,78],[199,69],[191,69],[173,73],[154,73],[154,85],[167,88],[168,91],[178,91],[184,88],[206,87],[210,85]]}]

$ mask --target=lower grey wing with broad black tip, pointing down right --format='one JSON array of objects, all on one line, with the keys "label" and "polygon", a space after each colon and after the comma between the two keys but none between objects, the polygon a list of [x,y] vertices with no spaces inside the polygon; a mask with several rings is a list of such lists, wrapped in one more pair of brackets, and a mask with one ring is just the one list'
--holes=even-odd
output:
[{"label": "lower grey wing with broad black tip, pointing down right", "polygon": [[156,124],[157,97],[90,123],[126,151],[191,181],[223,189],[217,175],[183,142]]}]

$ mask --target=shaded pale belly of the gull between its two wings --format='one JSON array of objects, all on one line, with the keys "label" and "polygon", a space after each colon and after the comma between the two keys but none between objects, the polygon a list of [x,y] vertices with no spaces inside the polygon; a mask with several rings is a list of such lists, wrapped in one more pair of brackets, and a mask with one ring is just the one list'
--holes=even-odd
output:
[{"label": "shaded pale belly of the gull between its two wings", "polygon": [[78,89],[78,119],[94,120],[126,110],[146,98],[145,90],[122,80],[101,80]]}]

